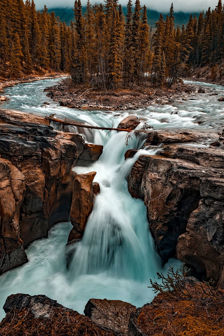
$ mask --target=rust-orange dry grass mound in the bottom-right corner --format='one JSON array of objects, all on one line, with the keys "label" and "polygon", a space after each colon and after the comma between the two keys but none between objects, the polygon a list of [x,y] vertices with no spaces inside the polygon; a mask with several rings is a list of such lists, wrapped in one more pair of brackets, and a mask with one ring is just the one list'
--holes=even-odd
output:
[{"label": "rust-orange dry grass mound in the bottom-right corner", "polygon": [[153,336],[223,336],[223,291],[183,282],[181,291],[159,293],[150,305],[145,305],[137,325]]}]

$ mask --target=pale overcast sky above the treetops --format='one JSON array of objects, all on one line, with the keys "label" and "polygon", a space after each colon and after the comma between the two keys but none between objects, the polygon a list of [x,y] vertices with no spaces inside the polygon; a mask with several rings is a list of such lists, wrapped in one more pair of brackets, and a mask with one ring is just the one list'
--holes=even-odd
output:
[{"label": "pale overcast sky above the treetops", "polygon": [[[36,4],[37,9],[42,9],[44,4],[48,8],[55,8],[55,7],[73,7],[74,1],[73,0],[36,0],[34,1]],[[86,4],[86,0],[81,0],[82,5]],[[91,2],[91,0],[90,0]],[[103,0],[100,1],[92,1],[91,3],[103,3]],[[128,0],[120,0],[122,5],[127,5]],[[132,1],[133,3],[135,0]],[[155,9],[162,12],[167,12],[170,8],[172,0],[141,0],[141,5],[144,4],[147,8]],[[217,5],[218,0],[173,0],[174,10],[177,11],[185,11],[185,12],[198,12],[201,10],[207,10],[210,6],[211,8],[215,8]]]}]

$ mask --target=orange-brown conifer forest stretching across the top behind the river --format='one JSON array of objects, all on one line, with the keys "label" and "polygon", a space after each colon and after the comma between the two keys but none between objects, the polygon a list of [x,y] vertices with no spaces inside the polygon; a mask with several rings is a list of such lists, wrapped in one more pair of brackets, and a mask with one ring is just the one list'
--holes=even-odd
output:
[{"label": "orange-brown conifer forest stretching across the top behind the river", "polygon": [[119,86],[171,86],[188,67],[213,66],[224,53],[224,5],[198,18],[190,15],[186,27],[175,27],[173,4],[161,14],[152,32],[147,9],[129,0],[127,14],[117,0],[87,2],[83,15],[75,1],[70,26],[48,13],[36,11],[34,1],[0,0],[0,71],[21,77],[34,70],[70,72],[77,85],[117,89]]}]

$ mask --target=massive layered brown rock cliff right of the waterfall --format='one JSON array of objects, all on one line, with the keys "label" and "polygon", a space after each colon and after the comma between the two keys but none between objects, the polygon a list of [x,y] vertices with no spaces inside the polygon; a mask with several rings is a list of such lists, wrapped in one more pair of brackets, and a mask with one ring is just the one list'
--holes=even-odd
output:
[{"label": "massive layered brown rock cliff right of the waterfall", "polygon": [[162,259],[176,255],[216,283],[224,265],[223,163],[223,150],[172,144],[141,155],[128,179],[131,195],[145,202]]}]

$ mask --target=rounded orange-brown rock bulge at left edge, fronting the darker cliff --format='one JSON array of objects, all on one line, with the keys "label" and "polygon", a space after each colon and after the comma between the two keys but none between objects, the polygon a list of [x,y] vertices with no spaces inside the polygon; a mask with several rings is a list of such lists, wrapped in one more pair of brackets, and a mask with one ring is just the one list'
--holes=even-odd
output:
[{"label": "rounded orange-brown rock bulge at left edge, fronting the darker cliff", "polygon": [[19,210],[25,195],[25,176],[0,158],[0,274],[27,262],[19,234]]}]

